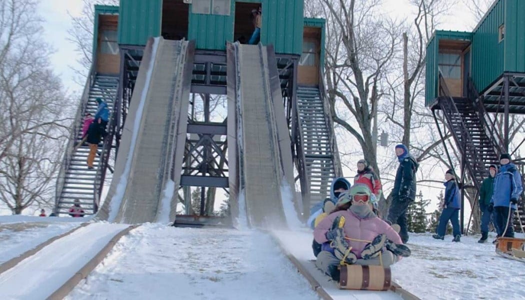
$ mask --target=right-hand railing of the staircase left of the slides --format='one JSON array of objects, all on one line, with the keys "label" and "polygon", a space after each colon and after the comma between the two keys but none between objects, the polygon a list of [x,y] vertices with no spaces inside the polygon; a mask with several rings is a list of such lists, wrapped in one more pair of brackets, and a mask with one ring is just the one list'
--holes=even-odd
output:
[{"label": "right-hand railing of the staircase left of the slides", "polygon": [[[120,86],[120,82],[117,85],[117,89]],[[108,163],[111,154],[111,148],[113,147],[113,140],[116,135],[117,128],[117,116],[118,109],[120,107],[119,93],[115,93],[115,98],[113,99],[113,108],[108,120],[108,129],[106,131],[106,136],[104,137],[104,142],[102,144],[102,151],[100,153],[100,162],[97,167],[97,174],[95,175],[95,184],[93,190],[93,213],[96,213],[100,204],[100,196],[102,194],[102,189],[104,188],[104,180],[106,180],[106,172],[108,170]]]}]

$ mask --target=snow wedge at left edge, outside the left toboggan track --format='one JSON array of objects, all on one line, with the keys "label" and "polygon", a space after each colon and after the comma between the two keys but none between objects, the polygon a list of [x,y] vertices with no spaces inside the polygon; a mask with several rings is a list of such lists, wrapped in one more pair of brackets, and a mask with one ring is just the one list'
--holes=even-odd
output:
[{"label": "snow wedge at left edge, outside the left toboggan track", "polygon": [[[43,218],[37,218],[43,221]],[[15,218],[11,221],[0,223],[0,264],[79,225],[78,222],[22,223],[16,222]]]}]

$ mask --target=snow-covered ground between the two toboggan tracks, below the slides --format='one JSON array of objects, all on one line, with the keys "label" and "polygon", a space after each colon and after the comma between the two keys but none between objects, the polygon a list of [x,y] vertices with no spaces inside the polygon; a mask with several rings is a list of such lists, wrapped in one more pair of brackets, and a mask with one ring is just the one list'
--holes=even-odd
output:
[{"label": "snow-covered ground between the two toboggan tracks, below the slides", "polygon": [[255,230],[145,224],[68,299],[318,299],[272,238]]}]

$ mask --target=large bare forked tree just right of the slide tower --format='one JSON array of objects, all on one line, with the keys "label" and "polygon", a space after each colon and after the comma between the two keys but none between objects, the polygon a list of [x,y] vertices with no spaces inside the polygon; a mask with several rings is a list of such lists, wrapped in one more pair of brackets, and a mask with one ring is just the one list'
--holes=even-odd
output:
[{"label": "large bare forked tree just right of the slide tower", "polygon": [[[334,122],[360,144],[379,175],[377,115],[380,89],[400,45],[400,26],[380,12],[379,0],[321,0],[327,17],[325,77]],[[350,112],[350,114],[348,113]]]}]

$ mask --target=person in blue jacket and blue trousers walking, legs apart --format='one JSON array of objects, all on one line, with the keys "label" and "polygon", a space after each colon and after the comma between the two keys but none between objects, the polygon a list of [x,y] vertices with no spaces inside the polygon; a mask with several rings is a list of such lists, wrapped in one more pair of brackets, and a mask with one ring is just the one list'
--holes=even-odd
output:
[{"label": "person in blue jacket and blue trousers walking, legs apart", "polygon": [[461,209],[460,192],[454,170],[450,169],[445,173],[445,199],[443,211],[439,217],[436,234],[432,237],[437,240],[444,240],[447,231],[448,220],[452,223],[454,235],[453,242],[459,242],[461,238],[461,229],[459,227],[459,209]]}]

